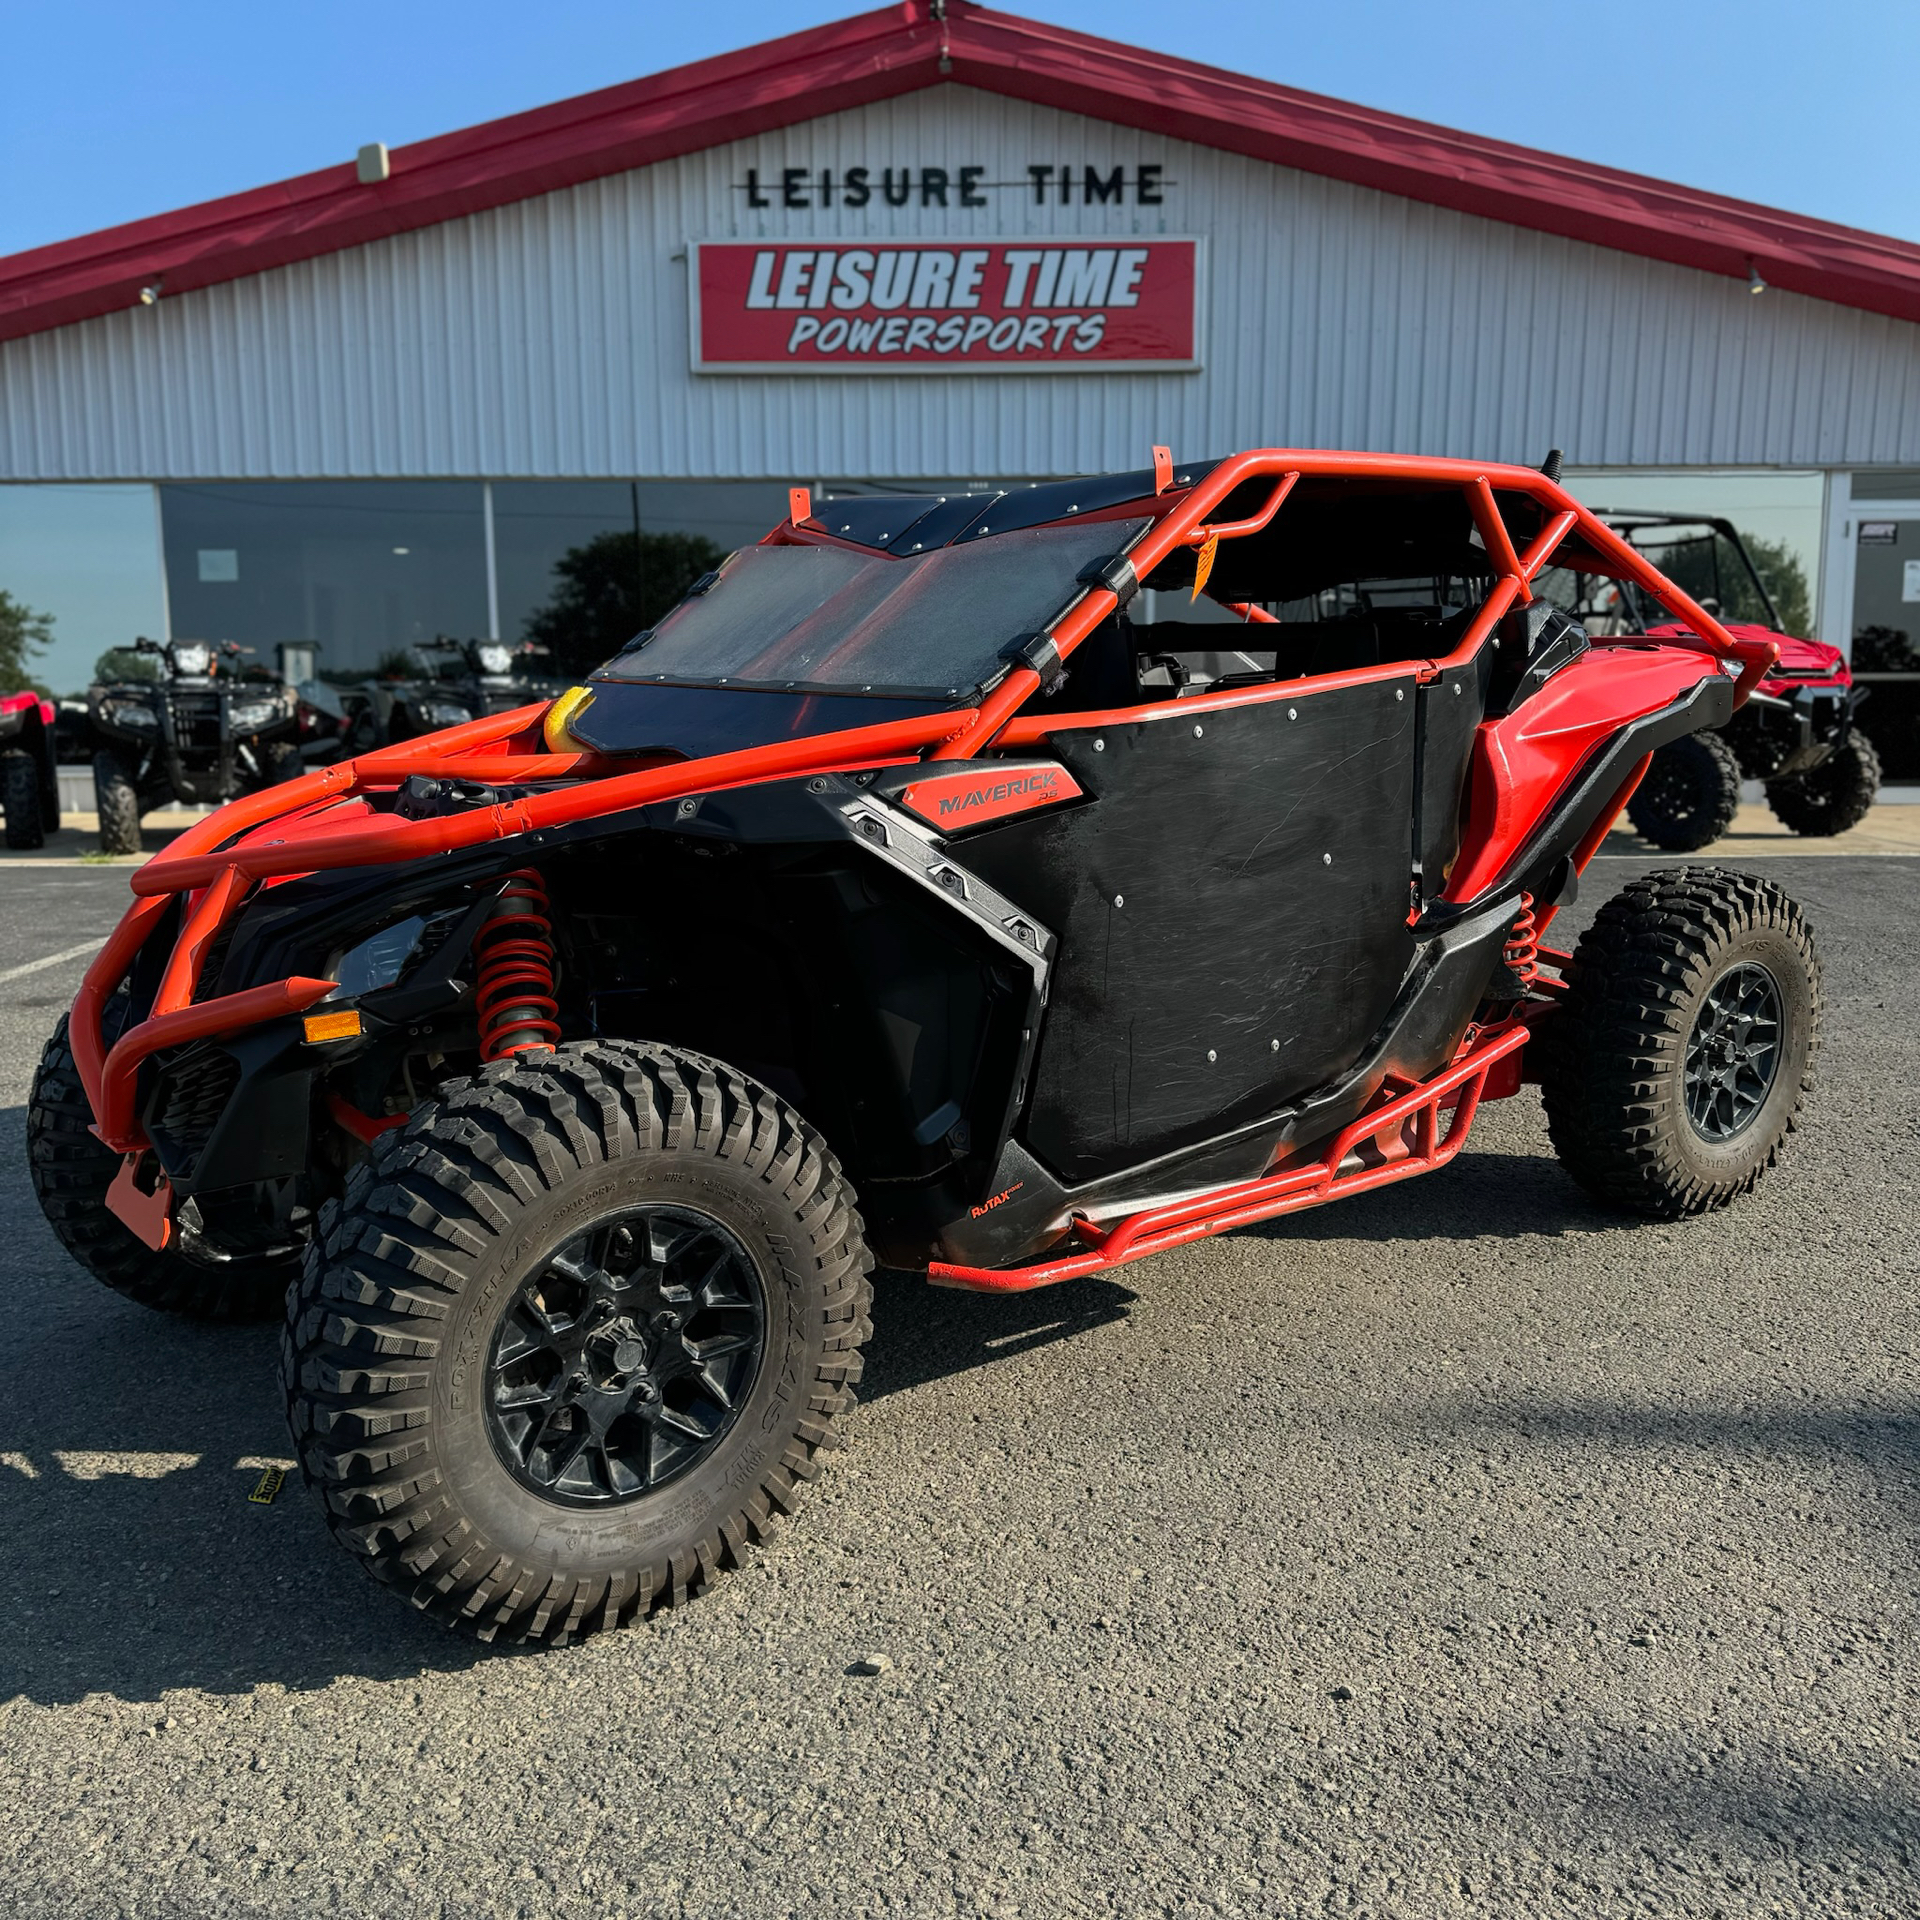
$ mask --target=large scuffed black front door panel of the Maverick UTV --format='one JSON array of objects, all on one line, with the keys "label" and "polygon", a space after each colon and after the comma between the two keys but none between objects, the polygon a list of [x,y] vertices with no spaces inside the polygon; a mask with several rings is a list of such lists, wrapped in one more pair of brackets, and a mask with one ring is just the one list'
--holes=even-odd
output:
[{"label": "large scuffed black front door panel of the Maverick UTV", "polygon": [[1407,972],[1411,674],[1056,733],[1089,801],[964,860],[1060,935],[1025,1139],[1087,1181],[1350,1066]]}]

